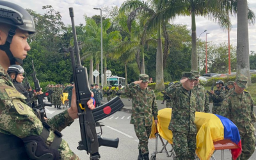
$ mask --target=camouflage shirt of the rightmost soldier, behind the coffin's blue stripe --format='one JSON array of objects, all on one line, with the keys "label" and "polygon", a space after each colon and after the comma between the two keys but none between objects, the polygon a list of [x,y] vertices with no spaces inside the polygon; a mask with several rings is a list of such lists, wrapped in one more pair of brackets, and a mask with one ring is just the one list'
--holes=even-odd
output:
[{"label": "camouflage shirt of the rightmost soldier, behind the coffin's blue stripe", "polygon": [[256,116],[253,100],[248,92],[237,94],[235,90],[230,90],[222,102],[220,115],[234,122],[241,133],[255,131],[253,123],[256,122]]}]

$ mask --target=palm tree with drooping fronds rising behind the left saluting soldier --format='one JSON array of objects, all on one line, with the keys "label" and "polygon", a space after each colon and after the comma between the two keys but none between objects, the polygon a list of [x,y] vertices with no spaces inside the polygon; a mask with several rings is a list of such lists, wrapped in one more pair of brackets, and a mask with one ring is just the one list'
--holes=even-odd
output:
[{"label": "palm tree with drooping fronds rising behind the left saluting soldier", "polygon": [[[136,16],[141,16],[141,19],[147,20],[145,23],[145,29],[143,35],[141,36],[142,43],[145,44],[143,38],[148,29],[157,29],[157,53],[156,53],[156,90],[164,89],[164,77],[163,77],[163,49],[162,49],[162,40],[161,40],[161,28],[164,23],[159,19],[156,22],[155,15],[157,12],[160,12],[164,8],[164,1],[152,0],[149,3],[139,0],[130,0],[125,1],[120,7],[120,11],[130,12],[129,18],[127,20],[127,25],[131,28],[131,22]],[[153,24],[153,25],[150,25]],[[151,31],[152,31],[151,30]],[[143,51],[143,47],[141,47]]]}]

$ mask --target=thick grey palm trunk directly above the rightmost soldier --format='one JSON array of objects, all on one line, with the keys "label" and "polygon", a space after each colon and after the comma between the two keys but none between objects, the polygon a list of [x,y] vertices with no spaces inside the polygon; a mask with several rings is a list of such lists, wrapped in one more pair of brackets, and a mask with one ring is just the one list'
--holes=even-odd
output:
[{"label": "thick grey palm trunk directly above the rightmost soldier", "polygon": [[248,3],[247,0],[237,0],[237,74],[241,73],[248,77],[251,84],[249,39],[248,39]]}]

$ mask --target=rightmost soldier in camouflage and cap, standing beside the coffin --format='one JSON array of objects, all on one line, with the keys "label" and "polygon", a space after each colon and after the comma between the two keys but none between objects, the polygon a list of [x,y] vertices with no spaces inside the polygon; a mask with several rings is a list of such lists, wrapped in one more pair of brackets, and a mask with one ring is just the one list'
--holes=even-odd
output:
[{"label": "rightmost soldier in camouflage and cap, standing beside the coffin", "polygon": [[249,92],[244,91],[248,77],[238,74],[234,90],[230,90],[221,105],[220,115],[229,118],[236,124],[241,142],[242,154],[237,159],[249,159],[255,150],[254,123],[256,116],[253,111],[253,100]]}]

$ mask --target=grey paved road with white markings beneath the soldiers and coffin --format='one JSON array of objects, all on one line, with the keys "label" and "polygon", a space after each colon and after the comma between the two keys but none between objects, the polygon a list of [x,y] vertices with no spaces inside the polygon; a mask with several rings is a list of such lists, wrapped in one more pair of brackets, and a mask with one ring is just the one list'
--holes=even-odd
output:
[{"label": "grey paved road with white markings beneath the soldiers and coffin", "polygon": [[[57,110],[51,107],[46,107],[47,115],[49,118],[63,111]],[[103,137],[104,138],[119,138],[118,148],[109,148],[109,147],[100,147],[99,152],[101,159],[104,160],[131,160],[137,159],[138,157],[138,138],[135,135],[133,125],[129,124],[131,119],[130,113],[125,113],[123,111],[116,112],[115,114],[101,120],[102,124],[105,125],[103,127]],[[99,131],[99,129],[97,129]],[[78,141],[81,140],[80,129],[79,129],[79,120],[75,120],[75,122],[62,131],[64,134],[63,139],[68,142],[70,148],[81,158],[81,159],[89,159],[89,156],[85,151],[77,150]],[[164,140],[165,142],[165,140]],[[157,147],[161,148],[161,143],[158,141]],[[156,140],[149,140],[149,150],[150,154],[154,152],[156,147]],[[171,149],[170,145],[168,145],[168,150]],[[216,159],[221,159],[220,151],[214,153],[214,157]],[[172,157],[166,157],[165,153],[157,154],[156,159],[164,160],[164,159],[172,159]],[[230,158],[229,150],[225,150],[225,159]],[[250,160],[256,159],[256,154],[250,158]]]}]

